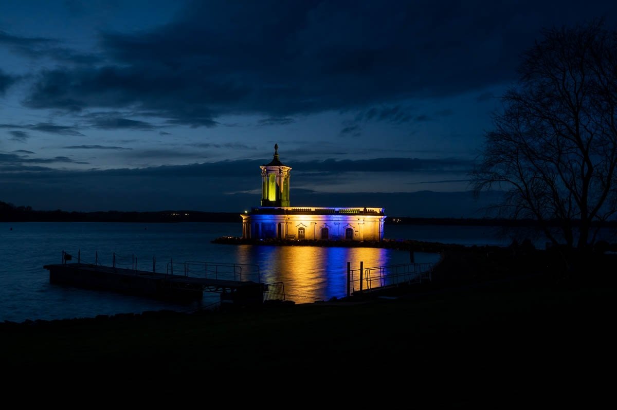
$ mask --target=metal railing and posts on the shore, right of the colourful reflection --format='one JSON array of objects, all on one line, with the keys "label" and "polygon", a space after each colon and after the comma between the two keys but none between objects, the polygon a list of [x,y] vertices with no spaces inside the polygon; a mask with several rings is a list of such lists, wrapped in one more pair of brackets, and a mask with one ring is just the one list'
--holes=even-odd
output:
[{"label": "metal railing and posts on the shore, right of the colourful reflection", "polygon": [[374,268],[350,269],[347,263],[347,296],[352,292],[370,292],[381,287],[431,281],[433,263],[405,263]]}]

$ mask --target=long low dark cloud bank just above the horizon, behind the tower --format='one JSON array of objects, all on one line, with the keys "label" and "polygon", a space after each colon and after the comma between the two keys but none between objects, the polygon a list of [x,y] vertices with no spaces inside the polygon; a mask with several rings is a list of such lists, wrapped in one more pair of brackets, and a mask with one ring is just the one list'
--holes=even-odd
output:
[{"label": "long low dark cloud bank just above the horizon, behind the tower", "polygon": [[[246,175],[259,175],[260,163],[238,161],[147,169],[60,171],[28,164],[11,167],[2,163],[0,157],[0,171],[12,171],[0,173],[0,182],[6,192],[10,192],[10,197],[3,200],[28,204],[35,209],[186,209],[241,213],[259,206],[259,180],[255,187],[255,180]],[[376,165],[379,164],[381,161]],[[311,179],[312,174],[297,175],[296,185],[302,184],[303,178]],[[66,186],[72,187],[71,195],[61,194]],[[195,186],[207,189],[196,190]],[[161,192],[173,192],[173,195],[161,195]],[[495,193],[487,193],[482,200],[491,200],[491,195]],[[482,216],[477,213],[478,209],[486,205],[476,202],[471,192],[324,193],[293,186],[291,201],[292,206],[384,207],[389,216],[454,218]]]}]

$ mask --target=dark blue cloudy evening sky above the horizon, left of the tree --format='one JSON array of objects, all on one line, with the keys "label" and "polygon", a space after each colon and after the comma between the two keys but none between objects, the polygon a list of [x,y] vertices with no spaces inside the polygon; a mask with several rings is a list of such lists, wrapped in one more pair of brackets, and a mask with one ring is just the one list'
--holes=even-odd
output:
[{"label": "dark blue cloudy evening sky above the horizon, left of the tree", "polygon": [[520,54],[605,1],[0,2],[0,200],[482,216],[467,172]]}]

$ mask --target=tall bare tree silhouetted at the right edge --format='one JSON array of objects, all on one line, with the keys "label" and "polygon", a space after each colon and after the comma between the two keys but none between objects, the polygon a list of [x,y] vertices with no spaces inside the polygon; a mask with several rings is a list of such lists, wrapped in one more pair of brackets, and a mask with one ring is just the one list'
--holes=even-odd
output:
[{"label": "tall bare tree silhouetted at the right edge", "polygon": [[578,230],[584,248],[617,211],[617,32],[598,20],[542,35],[493,115],[471,179],[476,194],[507,192],[500,215],[536,219],[568,247]]}]

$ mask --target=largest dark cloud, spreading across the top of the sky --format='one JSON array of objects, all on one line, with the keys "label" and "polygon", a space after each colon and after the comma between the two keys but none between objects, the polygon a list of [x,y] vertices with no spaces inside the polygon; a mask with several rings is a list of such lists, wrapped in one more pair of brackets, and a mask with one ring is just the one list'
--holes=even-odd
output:
[{"label": "largest dark cloud, spreading across the top of the sky", "polygon": [[[169,124],[216,126],[224,114],[288,118],[450,96],[513,80],[540,28],[615,15],[615,7],[594,0],[583,8],[530,0],[193,1],[154,30],[103,33],[106,64],[43,70],[24,103],[130,106]],[[381,115],[388,114],[373,118]]]}]

